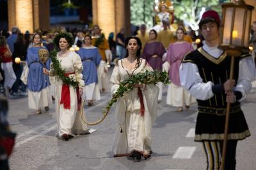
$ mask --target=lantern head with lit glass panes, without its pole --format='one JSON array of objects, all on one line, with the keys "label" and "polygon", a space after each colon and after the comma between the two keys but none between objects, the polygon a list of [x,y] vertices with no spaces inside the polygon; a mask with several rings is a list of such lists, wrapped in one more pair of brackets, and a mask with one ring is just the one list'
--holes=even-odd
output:
[{"label": "lantern head with lit glass panes, without its pole", "polygon": [[248,50],[253,8],[243,0],[222,4],[221,49]]}]

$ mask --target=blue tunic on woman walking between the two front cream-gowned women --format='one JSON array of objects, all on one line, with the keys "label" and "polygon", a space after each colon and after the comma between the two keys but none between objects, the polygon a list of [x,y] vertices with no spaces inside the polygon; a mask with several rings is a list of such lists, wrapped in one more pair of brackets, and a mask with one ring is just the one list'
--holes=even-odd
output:
[{"label": "blue tunic on woman walking between the two front cream-gowned women", "polygon": [[102,57],[97,47],[82,47],[79,54],[83,62],[83,81],[86,85],[98,82],[97,66],[100,64]]}]

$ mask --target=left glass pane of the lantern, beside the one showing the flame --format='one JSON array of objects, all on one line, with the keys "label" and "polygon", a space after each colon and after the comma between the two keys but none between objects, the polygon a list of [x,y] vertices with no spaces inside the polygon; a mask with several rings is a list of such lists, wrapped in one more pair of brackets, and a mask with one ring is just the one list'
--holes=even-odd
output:
[{"label": "left glass pane of the lantern, beside the one showing the flame", "polygon": [[229,45],[231,42],[230,40],[230,30],[232,27],[232,17],[233,17],[233,8],[226,8],[225,13],[225,26],[223,30],[223,45]]}]

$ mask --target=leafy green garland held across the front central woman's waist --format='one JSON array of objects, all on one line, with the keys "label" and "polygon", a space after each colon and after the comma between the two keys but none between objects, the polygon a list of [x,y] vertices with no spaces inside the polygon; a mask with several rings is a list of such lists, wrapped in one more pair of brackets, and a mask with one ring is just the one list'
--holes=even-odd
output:
[{"label": "leafy green garland held across the front central woman's waist", "polygon": [[106,107],[102,110],[103,114],[107,114],[109,109],[117,101],[118,98],[123,97],[125,93],[132,91],[135,84],[157,84],[157,82],[163,82],[164,84],[170,83],[168,73],[159,71],[146,71],[143,73],[137,73],[136,75],[132,75],[132,77],[125,79],[120,83],[116,93],[112,96],[111,100],[109,100]]}]

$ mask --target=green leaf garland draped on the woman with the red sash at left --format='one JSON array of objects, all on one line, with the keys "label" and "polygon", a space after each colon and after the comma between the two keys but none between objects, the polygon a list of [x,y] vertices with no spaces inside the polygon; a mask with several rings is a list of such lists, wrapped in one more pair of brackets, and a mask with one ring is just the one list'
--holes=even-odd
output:
[{"label": "green leaf garland draped on the woman with the red sash at left", "polygon": [[60,61],[57,59],[56,49],[52,50],[50,58],[52,60],[52,67],[54,69],[54,75],[56,78],[61,80],[63,84],[67,84],[68,86],[72,86],[76,89],[78,87],[78,82],[70,77],[65,77],[65,70],[61,68]]}]

